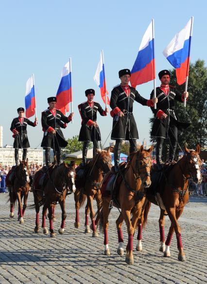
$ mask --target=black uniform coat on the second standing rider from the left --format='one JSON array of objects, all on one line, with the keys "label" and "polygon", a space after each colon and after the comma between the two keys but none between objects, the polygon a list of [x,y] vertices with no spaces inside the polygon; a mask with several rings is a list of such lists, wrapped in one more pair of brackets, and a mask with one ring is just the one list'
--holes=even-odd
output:
[{"label": "black uniform coat on the second standing rider from the left", "polygon": [[[68,142],[65,140],[63,133],[60,129],[60,127],[62,127],[61,121],[69,123],[68,117],[64,116],[64,114],[57,109],[55,117],[52,115],[49,109],[46,109],[44,112],[42,112],[41,122],[42,130],[44,131],[44,136],[42,139],[41,147],[43,147],[43,149],[58,149],[61,147],[64,148],[68,145]],[[56,130],[55,135],[47,131],[50,126]]]}]

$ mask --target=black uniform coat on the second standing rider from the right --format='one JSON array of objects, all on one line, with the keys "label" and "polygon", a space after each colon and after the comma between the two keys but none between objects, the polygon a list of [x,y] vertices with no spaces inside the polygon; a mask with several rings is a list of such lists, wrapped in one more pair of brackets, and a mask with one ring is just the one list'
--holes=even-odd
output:
[{"label": "black uniform coat on the second standing rider from the right", "polygon": [[[127,97],[124,90],[121,88],[121,85],[114,87],[111,92],[110,107],[114,110],[116,107],[119,107],[123,112],[127,111],[124,117],[113,117],[113,129],[111,133],[111,139],[138,139],[138,129],[133,116],[133,103],[136,100],[142,105],[147,105],[147,100],[139,95],[138,91],[130,87],[130,94]],[[117,120],[118,119],[118,120]],[[127,126],[126,126],[127,124]],[[130,131],[130,133],[129,133]]]}]

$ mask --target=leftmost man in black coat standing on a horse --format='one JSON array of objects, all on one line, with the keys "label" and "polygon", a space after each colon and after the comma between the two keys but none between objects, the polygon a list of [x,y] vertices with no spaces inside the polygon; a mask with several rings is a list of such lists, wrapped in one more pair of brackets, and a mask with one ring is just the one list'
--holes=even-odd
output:
[{"label": "leftmost man in black coat standing on a horse", "polygon": [[35,122],[30,121],[28,118],[24,117],[24,108],[17,108],[18,117],[12,120],[10,130],[14,133],[15,138],[13,147],[15,148],[15,163],[18,166],[18,150],[23,150],[22,160],[26,161],[27,158],[27,148],[30,148],[30,143],[27,137],[27,124],[35,127],[37,125],[37,118]]}]

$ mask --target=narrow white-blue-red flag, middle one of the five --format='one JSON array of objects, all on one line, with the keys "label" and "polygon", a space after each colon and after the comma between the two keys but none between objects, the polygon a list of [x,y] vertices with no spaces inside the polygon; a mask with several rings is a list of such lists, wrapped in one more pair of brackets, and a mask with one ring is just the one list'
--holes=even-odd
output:
[{"label": "narrow white-blue-red flag, middle one of the five", "polygon": [[103,51],[100,55],[100,61],[98,63],[96,73],[93,77],[93,80],[96,82],[96,84],[100,87],[101,90],[101,96],[102,100],[104,100],[105,103],[105,97],[107,100],[107,104],[110,104],[109,98],[108,98],[108,91],[106,90],[106,84],[105,84],[105,71],[104,71],[104,56]]}]

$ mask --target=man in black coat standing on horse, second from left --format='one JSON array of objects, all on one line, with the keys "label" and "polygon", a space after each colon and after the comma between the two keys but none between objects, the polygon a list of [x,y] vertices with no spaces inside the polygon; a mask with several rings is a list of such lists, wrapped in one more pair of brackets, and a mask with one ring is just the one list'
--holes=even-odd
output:
[{"label": "man in black coat standing on horse, second from left", "polygon": [[62,121],[69,123],[73,117],[73,113],[66,117],[60,110],[55,109],[56,101],[56,97],[48,98],[49,108],[42,112],[41,118],[42,130],[44,132],[41,147],[45,150],[46,166],[50,164],[51,148],[53,148],[56,154],[57,165],[60,165],[61,147],[65,148],[68,145],[60,127]]}]

